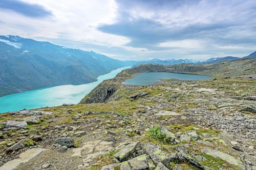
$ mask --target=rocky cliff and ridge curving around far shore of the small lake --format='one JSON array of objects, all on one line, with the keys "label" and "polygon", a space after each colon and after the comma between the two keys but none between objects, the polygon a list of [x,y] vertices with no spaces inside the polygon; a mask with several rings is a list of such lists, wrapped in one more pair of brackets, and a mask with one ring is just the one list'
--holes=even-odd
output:
[{"label": "rocky cliff and ridge curving around far shore of the small lake", "polygon": [[216,77],[252,77],[256,79],[256,58],[235,60],[216,64],[178,64],[171,66],[164,65],[140,65],[134,68],[125,69],[113,79],[109,79],[98,85],[80,103],[106,102],[118,100],[119,94],[115,92],[120,89],[128,88],[127,85],[121,84],[126,79],[132,78],[142,72],[181,72],[213,75]]}]

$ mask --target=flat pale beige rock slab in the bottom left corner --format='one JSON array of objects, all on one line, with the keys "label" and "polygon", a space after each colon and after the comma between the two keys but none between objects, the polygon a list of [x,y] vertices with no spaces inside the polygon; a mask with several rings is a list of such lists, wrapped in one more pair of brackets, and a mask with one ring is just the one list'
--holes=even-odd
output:
[{"label": "flat pale beige rock slab in the bottom left corner", "polygon": [[25,152],[20,154],[20,158],[6,162],[2,167],[0,167],[0,170],[13,170],[16,167],[18,167],[21,163],[28,162],[30,159],[32,159],[33,157],[35,157],[36,155],[43,151],[44,149],[42,148],[33,148],[26,150]]}]

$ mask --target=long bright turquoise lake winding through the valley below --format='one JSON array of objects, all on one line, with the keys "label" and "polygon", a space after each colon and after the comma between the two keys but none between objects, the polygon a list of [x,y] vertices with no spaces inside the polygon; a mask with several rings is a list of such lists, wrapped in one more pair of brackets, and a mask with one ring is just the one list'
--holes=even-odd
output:
[{"label": "long bright turquoise lake winding through the valley below", "polygon": [[59,85],[40,88],[22,93],[0,97],[0,113],[22,109],[34,109],[46,106],[58,106],[63,103],[79,103],[94,87],[107,79],[115,77],[119,72],[130,67],[118,68],[108,74],[101,75],[98,81],[83,85]]}]

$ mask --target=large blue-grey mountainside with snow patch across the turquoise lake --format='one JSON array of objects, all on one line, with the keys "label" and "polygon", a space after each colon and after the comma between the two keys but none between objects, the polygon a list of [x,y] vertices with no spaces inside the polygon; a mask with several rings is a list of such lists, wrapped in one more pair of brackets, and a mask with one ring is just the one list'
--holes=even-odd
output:
[{"label": "large blue-grey mountainside with snow patch across the turquoise lake", "polygon": [[93,51],[0,36],[0,96],[46,86],[85,84],[133,64]]}]

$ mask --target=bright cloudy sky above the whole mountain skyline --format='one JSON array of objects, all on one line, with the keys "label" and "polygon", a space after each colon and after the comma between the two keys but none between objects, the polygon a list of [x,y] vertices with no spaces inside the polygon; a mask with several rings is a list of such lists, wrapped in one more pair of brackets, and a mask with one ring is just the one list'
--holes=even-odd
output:
[{"label": "bright cloudy sky above the whole mountain skyline", "polygon": [[256,51],[256,0],[0,0],[0,34],[121,60]]}]

